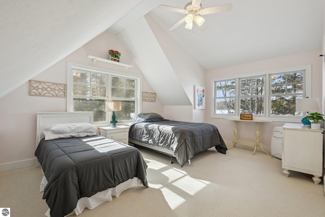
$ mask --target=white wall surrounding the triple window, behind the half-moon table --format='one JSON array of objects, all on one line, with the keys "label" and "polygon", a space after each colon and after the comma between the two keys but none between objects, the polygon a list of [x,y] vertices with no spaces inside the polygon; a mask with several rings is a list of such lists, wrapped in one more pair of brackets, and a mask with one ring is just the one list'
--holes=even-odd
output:
[{"label": "white wall surrounding the triple window, behind the half-moon table", "polygon": [[[318,97],[321,101],[322,99],[322,57],[319,57],[321,50],[312,50],[304,53],[297,53],[294,55],[280,56],[272,59],[265,59],[261,61],[256,61],[248,64],[231,66],[226,68],[220,68],[215,70],[207,71],[206,74],[206,95],[207,99],[211,99],[211,79],[212,78],[224,78],[225,75],[234,77],[236,75],[263,72],[274,69],[281,69],[286,67],[300,66],[311,64],[311,80],[312,80],[312,90],[311,97]],[[229,120],[224,120],[223,118],[211,118],[211,103],[210,100],[206,101],[206,113],[205,120],[206,122],[212,123],[217,126],[222,138],[226,141],[227,144],[234,138],[234,122]],[[271,150],[271,133],[273,127],[283,126],[284,122],[270,122],[270,123],[261,123],[261,137],[260,140],[264,143],[266,150],[270,152]],[[238,123],[239,133],[238,139],[252,140],[255,138],[255,123]],[[254,141],[254,140],[252,140]],[[258,150],[261,150],[258,148]]]}]

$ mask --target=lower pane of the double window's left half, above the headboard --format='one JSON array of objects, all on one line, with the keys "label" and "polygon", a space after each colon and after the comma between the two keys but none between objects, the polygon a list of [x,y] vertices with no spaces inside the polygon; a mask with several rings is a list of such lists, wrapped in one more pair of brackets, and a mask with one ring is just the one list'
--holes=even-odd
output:
[{"label": "lower pane of the double window's left half, above the headboard", "polygon": [[106,121],[106,100],[73,99],[73,111],[93,111],[94,122]]}]

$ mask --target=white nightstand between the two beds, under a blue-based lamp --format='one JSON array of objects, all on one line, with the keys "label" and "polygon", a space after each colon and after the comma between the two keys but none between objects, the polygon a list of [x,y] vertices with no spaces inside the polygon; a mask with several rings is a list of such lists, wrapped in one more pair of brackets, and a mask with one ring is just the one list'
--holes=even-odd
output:
[{"label": "white nightstand between the two beds, under a blue-based lamp", "polygon": [[101,127],[101,135],[108,139],[128,144],[128,126],[118,125],[116,127]]}]

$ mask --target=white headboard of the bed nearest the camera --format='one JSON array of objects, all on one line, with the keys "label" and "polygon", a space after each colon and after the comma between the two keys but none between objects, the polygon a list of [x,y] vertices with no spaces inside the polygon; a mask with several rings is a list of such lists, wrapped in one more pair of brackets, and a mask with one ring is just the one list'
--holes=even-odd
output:
[{"label": "white headboard of the bed nearest the camera", "polygon": [[54,123],[93,123],[93,112],[37,112],[36,147],[44,138],[46,127]]}]

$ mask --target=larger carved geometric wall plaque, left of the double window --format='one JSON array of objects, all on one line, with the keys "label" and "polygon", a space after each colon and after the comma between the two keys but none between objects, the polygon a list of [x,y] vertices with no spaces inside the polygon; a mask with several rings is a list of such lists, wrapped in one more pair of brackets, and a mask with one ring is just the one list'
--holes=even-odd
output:
[{"label": "larger carved geometric wall plaque, left of the double window", "polygon": [[66,94],[66,84],[29,80],[29,96],[64,98]]}]

